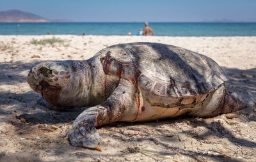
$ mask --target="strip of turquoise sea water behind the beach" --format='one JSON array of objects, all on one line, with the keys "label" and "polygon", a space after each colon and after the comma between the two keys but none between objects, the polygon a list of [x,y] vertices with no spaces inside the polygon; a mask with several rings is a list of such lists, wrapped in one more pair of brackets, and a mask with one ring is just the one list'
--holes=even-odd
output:
[{"label": "strip of turquoise sea water behind the beach", "polygon": [[[132,35],[143,23],[0,23],[1,35]],[[150,23],[156,36],[256,36],[256,23]]]}]

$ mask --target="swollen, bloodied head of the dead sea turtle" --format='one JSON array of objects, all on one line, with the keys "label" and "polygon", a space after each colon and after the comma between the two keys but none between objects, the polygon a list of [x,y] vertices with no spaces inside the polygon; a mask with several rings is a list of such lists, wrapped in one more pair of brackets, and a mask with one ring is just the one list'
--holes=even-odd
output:
[{"label": "swollen, bloodied head of the dead sea turtle", "polygon": [[[77,65],[78,64],[78,65]],[[49,61],[33,67],[28,84],[56,107],[79,107],[88,92],[84,69],[77,61]],[[78,70],[81,69],[81,70]]]}]

